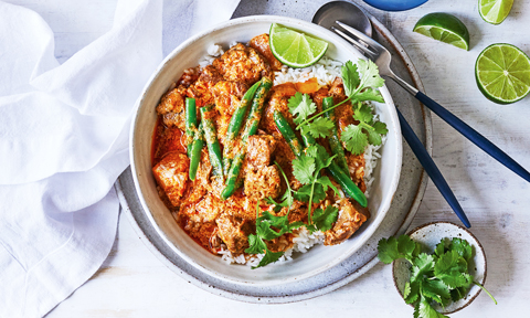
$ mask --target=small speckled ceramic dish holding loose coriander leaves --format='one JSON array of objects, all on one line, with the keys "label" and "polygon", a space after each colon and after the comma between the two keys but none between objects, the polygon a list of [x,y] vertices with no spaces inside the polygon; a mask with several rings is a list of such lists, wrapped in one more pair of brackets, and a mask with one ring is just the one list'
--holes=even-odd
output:
[{"label": "small speckled ceramic dish holding loose coriander leaves", "polygon": [[[418,226],[407,235],[424,246],[423,252],[433,253],[436,244],[439,243],[442,239],[453,239],[458,237],[466,240],[473,246],[473,258],[469,263],[469,274],[473,275],[474,280],[484,286],[486,282],[486,254],[484,253],[483,245],[478,242],[477,237],[471,234],[468,230],[448,222],[433,222],[425,225]],[[394,285],[401,297],[403,297],[403,289],[405,283],[409,282],[411,276],[410,263],[403,258],[396,259],[392,263],[392,276],[394,278]],[[436,311],[447,315],[456,312],[469,304],[471,304],[478,294],[480,294],[480,287],[477,285],[471,285],[466,297],[462,298],[458,301],[452,301],[445,308],[438,304],[434,304],[433,307]]]}]

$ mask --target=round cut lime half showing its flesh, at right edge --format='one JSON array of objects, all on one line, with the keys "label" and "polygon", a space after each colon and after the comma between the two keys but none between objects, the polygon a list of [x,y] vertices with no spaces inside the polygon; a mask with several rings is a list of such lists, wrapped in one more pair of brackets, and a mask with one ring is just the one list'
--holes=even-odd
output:
[{"label": "round cut lime half showing its flesh, at right edge", "polygon": [[492,44],[478,55],[475,76],[484,96],[511,104],[530,92],[530,59],[511,44]]}]

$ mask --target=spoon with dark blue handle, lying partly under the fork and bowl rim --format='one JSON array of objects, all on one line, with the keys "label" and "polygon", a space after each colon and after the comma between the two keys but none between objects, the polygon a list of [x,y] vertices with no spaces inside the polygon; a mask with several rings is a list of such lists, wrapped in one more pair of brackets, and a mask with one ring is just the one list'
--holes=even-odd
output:
[{"label": "spoon with dark blue handle, lying partly under the fork and bowl rim", "polygon": [[[372,23],[370,22],[370,19],[368,19],[367,14],[364,14],[364,12],[353,3],[344,1],[329,2],[320,7],[320,9],[317,10],[317,13],[315,13],[315,17],[312,17],[312,23],[331,31],[337,29],[337,21],[349,24],[353,29],[357,29],[358,31],[367,34],[369,38],[372,38]],[[364,44],[364,42],[360,42],[361,44]],[[433,180],[433,183],[445,198],[456,215],[460,219],[462,223],[464,223],[466,227],[471,227],[469,220],[447,184],[447,181],[445,181],[444,176],[442,176],[442,172],[436,167],[433,158],[431,158],[420,138],[417,138],[412,127],[405,120],[405,117],[403,117],[401,114],[400,109],[395,108],[395,110],[398,112],[401,132],[406,144],[409,144],[420,163],[422,163],[423,168],[425,169],[425,172],[427,172],[431,180]]]}]

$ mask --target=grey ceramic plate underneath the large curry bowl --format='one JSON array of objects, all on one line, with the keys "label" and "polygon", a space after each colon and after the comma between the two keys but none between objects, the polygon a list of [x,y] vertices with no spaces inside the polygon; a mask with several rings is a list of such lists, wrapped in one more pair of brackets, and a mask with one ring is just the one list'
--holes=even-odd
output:
[{"label": "grey ceramic plate underneath the large curry bowl", "polygon": [[[375,40],[389,47],[396,57],[394,59],[395,63],[392,65],[393,70],[405,81],[407,80],[410,83],[414,83],[417,88],[423,91],[423,85],[417,72],[401,44],[378,20],[374,18],[371,18],[371,20],[375,31]],[[430,113],[425,112],[417,100],[393,83],[389,82],[388,87],[392,93],[395,105],[399,106],[400,110],[404,114],[420,139],[424,142],[427,151],[432,152],[432,126]],[[324,295],[352,282],[373,267],[378,263],[375,258],[378,241],[381,237],[402,234],[406,231],[422,201],[426,184],[427,177],[424,174],[420,162],[416,160],[410,148],[405,146],[403,148],[403,167],[400,184],[394,194],[390,211],[373,236],[361,250],[352,254],[340,265],[319,275],[301,282],[262,286],[258,288],[255,286],[232,284],[212,277],[188,264],[177,253],[169,248],[159,237],[156,229],[152,227],[146,216],[147,214],[141,208],[135,190],[130,169],[127,169],[119,177],[116,182],[116,190],[124,212],[140,239],[163,264],[176,272],[179,276],[212,294],[227,298],[248,303],[282,304],[305,300]]]}]

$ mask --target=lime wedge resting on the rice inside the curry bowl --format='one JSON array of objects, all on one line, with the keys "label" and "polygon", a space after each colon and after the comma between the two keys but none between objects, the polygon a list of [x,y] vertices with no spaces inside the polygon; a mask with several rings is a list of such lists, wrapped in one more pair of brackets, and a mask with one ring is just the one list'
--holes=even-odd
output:
[{"label": "lime wedge resting on the rice inside the curry bowl", "polygon": [[276,23],[271,25],[268,41],[279,62],[297,68],[317,63],[328,50],[328,42]]}]

